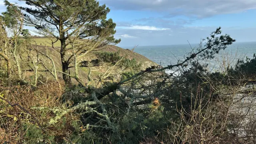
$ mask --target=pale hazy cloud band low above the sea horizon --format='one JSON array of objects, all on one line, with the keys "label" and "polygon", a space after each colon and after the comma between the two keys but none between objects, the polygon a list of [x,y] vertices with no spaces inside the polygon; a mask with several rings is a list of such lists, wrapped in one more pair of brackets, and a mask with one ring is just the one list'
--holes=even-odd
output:
[{"label": "pale hazy cloud band low above the sea horizon", "polygon": [[[170,44],[198,44],[201,42],[202,38],[206,38],[209,34],[216,30],[217,27],[209,26],[200,28],[186,27],[182,28],[172,28],[173,32],[170,30],[158,30],[149,31],[145,30],[131,30],[131,29],[119,29],[118,34],[122,41],[118,46],[149,46],[149,45],[170,45]],[[230,36],[236,39],[238,42],[245,41],[255,41],[256,40],[256,27],[252,28],[233,28],[222,27],[222,34],[230,34]],[[136,36],[137,38],[122,38],[120,35],[128,34],[129,36]],[[169,36],[172,34],[173,36]],[[188,45],[189,46],[189,45]]]}]

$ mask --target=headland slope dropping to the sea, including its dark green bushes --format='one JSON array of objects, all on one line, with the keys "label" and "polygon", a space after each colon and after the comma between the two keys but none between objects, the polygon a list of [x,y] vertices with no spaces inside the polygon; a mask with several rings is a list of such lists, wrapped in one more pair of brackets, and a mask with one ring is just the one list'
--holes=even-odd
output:
[{"label": "headland slope dropping to the sea, including its dark green bushes", "polygon": [[[61,60],[58,55],[58,52],[52,48],[51,40],[50,38],[44,38],[44,37],[32,37],[33,41],[31,42],[33,47],[36,47],[38,45],[39,48],[45,49],[47,48],[50,52],[49,56],[54,59],[54,62],[56,62],[56,68],[58,70],[61,70]],[[57,41],[54,43],[54,47],[56,49],[60,49],[60,42]],[[80,67],[78,69],[80,76],[83,77],[84,81],[88,81],[88,72],[91,69],[91,78],[92,79],[98,79],[98,75],[100,72],[105,72],[108,68],[112,66],[110,64],[111,62],[114,62],[115,60],[118,60],[122,58],[122,56],[125,56],[124,59],[126,59],[126,63],[128,62],[130,65],[127,66],[127,68],[115,68],[114,75],[112,74],[114,79],[120,79],[123,74],[126,73],[136,73],[140,70],[144,70],[151,66],[157,66],[156,63],[152,62],[145,56],[142,56],[136,52],[133,52],[132,50],[123,49],[118,46],[112,46],[112,45],[106,45],[98,51],[94,51],[88,54],[88,56],[84,57],[82,61],[86,63],[86,66]],[[104,59],[109,59],[108,61]],[[91,65],[88,65],[89,62],[98,62]],[[125,62],[123,62],[121,65],[125,65]],[[126,64],[127,65],[127,64]],[[42,76],[47,78],[47,73],[40,72]],[[74,68],[70,68],[70,74],[74,74]],[[58,74],[58,76],[61,78],[61,75]],[[49,76],[48,76],[49,77]],[[51,77],[49,77],[49,80],[51,80]],[[77,83],[76,80],[72,80],[73,83]]]}]

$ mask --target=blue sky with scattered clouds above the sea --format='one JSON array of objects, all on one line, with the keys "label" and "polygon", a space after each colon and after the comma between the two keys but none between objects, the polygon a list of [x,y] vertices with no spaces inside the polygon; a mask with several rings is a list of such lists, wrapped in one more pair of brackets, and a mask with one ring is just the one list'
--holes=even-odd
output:
[{"label": "blue sky with scattered clouds above the sea", "polygon": [[256,41],[256,0],[98,1],[110,8],[121,47],[199,43],[219,26],[237,42]]}]

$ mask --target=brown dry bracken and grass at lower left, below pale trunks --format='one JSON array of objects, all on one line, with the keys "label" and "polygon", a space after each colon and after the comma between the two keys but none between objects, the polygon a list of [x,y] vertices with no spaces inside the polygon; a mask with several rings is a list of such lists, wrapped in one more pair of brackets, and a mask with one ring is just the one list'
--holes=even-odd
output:
[{"label": "brown dry bracken and grass at lower left, below pale trunks", "polygon": [[[0,87],[0,89],[8,88]],[[36,110],[33,107],[60,107],[63,93],[63,81],[48,82],[47,84],[39,85],[37,88],[31,86],[12,86],[9,88],[8,93],[2,91],[2,96],[10,103],[18,104],[25,110],[18,106],[10,106],[7,102],[0,100],[0,143],[2,141],[15,144],[20,139],[26,139],[28,129],[21,130],[20,124],[36,124],[38,122],[41,126],[47,128],[49,120],[55,117],[55,114],[52,111]],[[18,111],[19,116],[14,111],[14,107]],[[78,118],[76,114],[66,115],[65,123],[60,121],[54,127],[44,128],[44,133],[51,134],[56,138],[68,136],[72,132],[71,122],[76,118]],[[40,127],[40,125],[36,125]]]}]

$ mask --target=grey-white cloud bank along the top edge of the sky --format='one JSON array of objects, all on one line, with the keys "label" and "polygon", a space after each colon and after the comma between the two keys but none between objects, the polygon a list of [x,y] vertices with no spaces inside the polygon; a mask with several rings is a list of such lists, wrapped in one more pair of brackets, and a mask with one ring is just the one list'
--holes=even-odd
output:
[{"label": "grey-white cloud bank along the top edge of the sky", "polygon": [[149,10],[204,18],[256,9],[256,0],[101,0],[113,9]]}]

